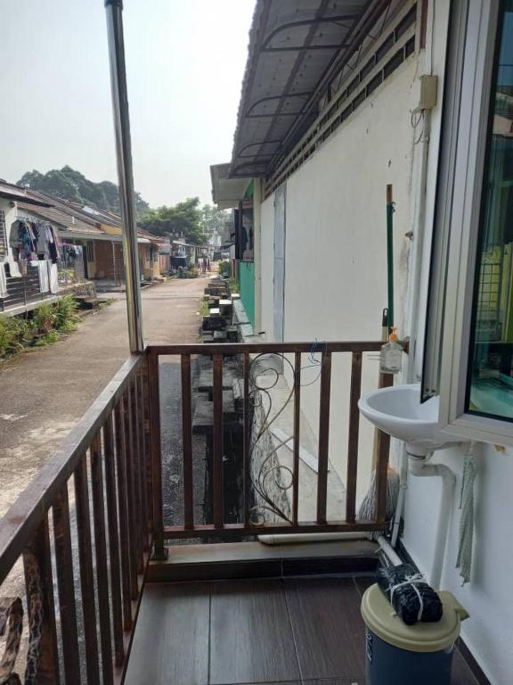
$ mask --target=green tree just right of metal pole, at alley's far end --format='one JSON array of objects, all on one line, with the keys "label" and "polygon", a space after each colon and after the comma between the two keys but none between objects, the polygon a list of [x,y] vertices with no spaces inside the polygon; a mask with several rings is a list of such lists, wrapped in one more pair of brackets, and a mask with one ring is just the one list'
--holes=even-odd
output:
[{"label": "green tree just right of metal pole, at alley's far end", "polygon": [[149,210],[139,219],[139,226],[153,235],[183,235],[188,243],[196,245],[205,242],[199,197],[189,197],[174,207]]}]

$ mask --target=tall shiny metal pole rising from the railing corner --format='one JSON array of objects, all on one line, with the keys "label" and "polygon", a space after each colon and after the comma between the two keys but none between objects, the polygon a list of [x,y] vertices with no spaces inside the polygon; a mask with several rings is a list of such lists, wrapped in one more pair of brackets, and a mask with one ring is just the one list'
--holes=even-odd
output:
[{"label": "tall shiny metal pole rising from the railing corner", "polygon": [[123,257],[125,261],[126,309],[131,352],[142,352],[142,310],[137,257],[137,225],[135,219],[132,146],[126,92],[125,45],[123,41],[123,2],[105,0],[107,34],[109,38],[110,86],[114,111],[116,154],[118,157],[119,200],[123,221]]}]

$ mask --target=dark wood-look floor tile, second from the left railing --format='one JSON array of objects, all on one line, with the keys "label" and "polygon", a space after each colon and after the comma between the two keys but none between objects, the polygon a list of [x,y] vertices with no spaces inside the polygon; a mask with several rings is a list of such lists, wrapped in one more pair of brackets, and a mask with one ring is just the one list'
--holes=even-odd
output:
[{"label": "dark wood-look floor tile, second from the left railing", "polygon": [[210,682],[300,681],[281,581],[212,584]]}]

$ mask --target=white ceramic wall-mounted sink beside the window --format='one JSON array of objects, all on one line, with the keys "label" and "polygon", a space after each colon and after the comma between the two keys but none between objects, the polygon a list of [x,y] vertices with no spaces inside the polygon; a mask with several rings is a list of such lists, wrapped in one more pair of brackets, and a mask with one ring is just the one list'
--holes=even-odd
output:
[{"label": "white ceramic wall-mounted sink beside the window", "polygon": [[452,435],[438,428],[438,398],[420,404],[420,384],[375,390],[363,395],[358,407],[384,433],[406,442],[410,454],[423,457],[454,443]]}]

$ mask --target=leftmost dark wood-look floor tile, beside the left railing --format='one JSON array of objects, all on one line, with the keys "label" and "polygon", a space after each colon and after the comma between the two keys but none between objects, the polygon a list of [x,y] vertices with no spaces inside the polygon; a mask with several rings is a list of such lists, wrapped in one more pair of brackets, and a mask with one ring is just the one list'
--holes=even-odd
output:
[{"label": "leftmost dark wood-look floor tile, beside the left railing", "polygon": [[208,682],[208,584],[144,588],[125,685]]}]

